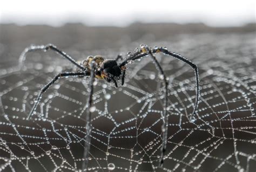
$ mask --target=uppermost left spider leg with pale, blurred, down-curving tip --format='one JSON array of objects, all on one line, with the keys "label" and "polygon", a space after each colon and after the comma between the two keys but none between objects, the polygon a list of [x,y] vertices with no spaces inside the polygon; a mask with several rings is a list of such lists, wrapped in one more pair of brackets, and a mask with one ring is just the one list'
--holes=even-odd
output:
[{"label": "uppermost left spider leg with pale, blurred, down-curving tip", "polygon": [[61,51],[58,49],[55,45],[48,44],[48,45],[39,45],[39,46],[30,46],[24,49],[22,54],[19,56],[19,67],[22,68],[23,63],[26,59],[26,54],[29,52],[36,52],[36,51],[48,51],[51,49],[52,51],[56,52],[57,54],[60,54],[63,56],[65,59],[68,59],[71,63],[75,64],[78,68],[85,70],[83,66],[78,64],[73,58],[71,58],[70,55],[66,54],[65,52]]}]

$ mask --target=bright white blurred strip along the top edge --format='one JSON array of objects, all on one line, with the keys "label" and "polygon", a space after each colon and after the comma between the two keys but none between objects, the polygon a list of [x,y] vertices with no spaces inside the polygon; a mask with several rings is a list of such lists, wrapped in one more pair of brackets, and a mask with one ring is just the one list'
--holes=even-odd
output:
[{"label": "bright white blurred strip along the top edge", "polygon": [[1,23],[63,26],[125,27],[142,23],[204,23],[208,26],[242,26],[255,23],[255,1],[5,1]]}]

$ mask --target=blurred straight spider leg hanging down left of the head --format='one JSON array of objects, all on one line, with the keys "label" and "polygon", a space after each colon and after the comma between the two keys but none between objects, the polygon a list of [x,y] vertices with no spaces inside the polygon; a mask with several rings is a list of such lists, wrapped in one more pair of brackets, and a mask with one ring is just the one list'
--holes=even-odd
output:
[{"label": "blurred straight spider leg hanging down left of the head", "polygon": [[[95,71],[96,66],[95,66],[95,62],[92,61],[91,62],[91,71]],[[82,164],[82,170],[85,171],[87,169],[87,164],[88,164],[88,155],[90,152],[90,146],[91,146],[91,130],[92,130],[92,126],[91,126],[91,105],[92,105],[92,95],[93,95],[93,82],[95,80],[95,73],[91,72],[90,75],[90,82],[89,82],[89,98],[87,101],[87,109],[86,109],[86,138],[85,138],[85,149],[84,149],[84,161]]]}]

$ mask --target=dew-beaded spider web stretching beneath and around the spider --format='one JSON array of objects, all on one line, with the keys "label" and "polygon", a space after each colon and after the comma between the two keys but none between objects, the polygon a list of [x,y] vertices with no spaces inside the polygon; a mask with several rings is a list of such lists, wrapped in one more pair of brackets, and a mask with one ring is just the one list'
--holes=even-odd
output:
[{"label": "dew-beaded spider web stretching beneath and around the spider", "polygon": [[[193,70],[183,62],[157,55],[169,80],[169,130],[163,168],[158,168],[158,161],[164,90],[154,64],[145,58],[129,66],[123,87],[97,82],[87,170],[254,171],[255,36],[203,34],[188,39],[181,35],[175,44],[170,42],[152,45],[167,46],[198,64],[201,95],[197,115],[188,120],[196,98]],[[128,47],[138,45],[133,42]],[[122,52],[131,50],[121,48]],[[119,51],[104,49],[79,55],[109,57]],[[43,85],[60,71],[72,69],[63,61],[54,53],[42,52],[29,54],[22,69],[11,60],[2,62],[2,171],[82,168],[88,80],[60,79],[43,95],[36,115],[30,121],[25,119]]]}]

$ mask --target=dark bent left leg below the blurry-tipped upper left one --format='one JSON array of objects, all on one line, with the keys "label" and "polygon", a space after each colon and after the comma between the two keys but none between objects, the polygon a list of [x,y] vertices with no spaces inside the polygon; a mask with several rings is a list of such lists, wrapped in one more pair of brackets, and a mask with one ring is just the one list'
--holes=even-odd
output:
[{"label": "dark bent left leg below the blurry-tipped upper left one", "polygon": [[59,73],[58,75],[56,75],[54,78],[52,78],[51,82],[49,82],[48,84],[46,84],[40,91],[39,95],[37,96],[36,102],[32,107],[32,110],[29,113],[29,116],[26,118],[27,120],[29,120],[31,118],[31,116],[33,115],[33,112],[36,110],[36,107],[38,105],[38,103],[40,102],[42,95],[44,94],[44,92],[46,90],[48,90],[48,88],[55,83],[59,78],[61,77],[69,77],[69,76],[86,76],[86,73],[84,72],[77,72],[77,73]]}]

